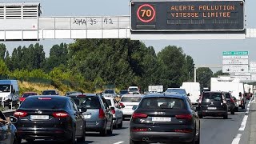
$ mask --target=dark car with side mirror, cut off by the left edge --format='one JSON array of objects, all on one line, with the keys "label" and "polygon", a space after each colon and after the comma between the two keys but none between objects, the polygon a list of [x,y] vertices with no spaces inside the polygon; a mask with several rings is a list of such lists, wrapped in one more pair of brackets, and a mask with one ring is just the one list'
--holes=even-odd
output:
[{"label": "dark car with side mirror, cut off by the left edge", "polygon": [[17,142],[17,130],[13,123],[17,118],[10,116],[10,121],[0,110],[0,143],[15,144]]}]

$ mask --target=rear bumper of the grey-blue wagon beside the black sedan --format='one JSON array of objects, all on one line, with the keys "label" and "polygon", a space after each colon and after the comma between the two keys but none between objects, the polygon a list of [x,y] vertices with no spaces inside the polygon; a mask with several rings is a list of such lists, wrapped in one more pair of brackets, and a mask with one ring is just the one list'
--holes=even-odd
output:
[{"label": "rear bumper of the grey-blue wagon beside the black sedan", "polygon": [[86,121],[86,131],[100,131],[105,129],[105,120],[99,120],[99,121]]}]

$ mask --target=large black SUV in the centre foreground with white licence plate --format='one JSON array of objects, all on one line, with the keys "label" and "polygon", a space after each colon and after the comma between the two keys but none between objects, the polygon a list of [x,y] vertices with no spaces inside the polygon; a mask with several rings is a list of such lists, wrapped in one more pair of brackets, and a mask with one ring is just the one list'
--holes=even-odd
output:
[{"label": "large black SUV in the centre foreground with white licence plate", "polygon": [[148,94],[130,120],[130,143],[200,143],[200,119],[190,99],[180,94]]}]

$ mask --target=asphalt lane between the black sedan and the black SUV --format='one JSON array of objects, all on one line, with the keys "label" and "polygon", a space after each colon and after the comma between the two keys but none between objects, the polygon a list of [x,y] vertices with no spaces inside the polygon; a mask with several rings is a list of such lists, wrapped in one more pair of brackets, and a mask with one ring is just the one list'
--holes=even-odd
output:
[{"label": "asphalt lane between the black sedan and the black SUV", "polygon": [[[106,136],[101,136],[97,132],[87,132],[86,133],[86,142],[78,142],[78,144],[97,144],[97,143],[104,143],[104,144],[122,144],[122,143],[129,143],[129,126],[130,126],[130,121],[126,119],[126,121],[123,121],[122,123],[122,128],[113,130],[113,134],[111,135],[106,135]],[[26,142],[25,140],[22,140],[23,144],[30,144],[29,142]],[[56,142],[52,141],[40,141],[37,140],[33,143],[37,144],[55,144]],[[60,142],[61,143],[61,142]]]}]

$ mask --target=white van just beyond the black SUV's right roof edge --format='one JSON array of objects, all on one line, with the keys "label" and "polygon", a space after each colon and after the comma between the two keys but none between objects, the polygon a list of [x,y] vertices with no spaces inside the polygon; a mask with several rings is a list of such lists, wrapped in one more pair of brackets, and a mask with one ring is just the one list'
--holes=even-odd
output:
[{"label": "white van just beyond the black SUV's right roof edge", "polygon": [[193,105],[198,104],[200,97],[200,83],[199,82],[183,82],[181,88],[186,90],[186,94],[189,94],[190,101]]}]

